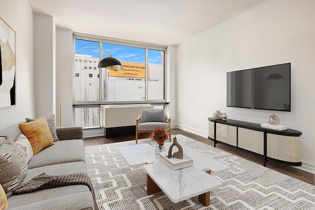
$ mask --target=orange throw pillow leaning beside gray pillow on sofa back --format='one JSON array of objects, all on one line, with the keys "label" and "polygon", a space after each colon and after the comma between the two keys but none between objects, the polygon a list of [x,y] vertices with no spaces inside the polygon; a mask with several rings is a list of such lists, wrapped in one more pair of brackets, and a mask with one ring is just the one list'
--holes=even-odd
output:
[{"label": "orange throw pillow leaning beside gray pillow on sofa back", "polygon": [[28,138],[33,154],[54,144],[53,136],[48,128],[46,118],[40,118],[27,123],[19,124],[22,133]]}]

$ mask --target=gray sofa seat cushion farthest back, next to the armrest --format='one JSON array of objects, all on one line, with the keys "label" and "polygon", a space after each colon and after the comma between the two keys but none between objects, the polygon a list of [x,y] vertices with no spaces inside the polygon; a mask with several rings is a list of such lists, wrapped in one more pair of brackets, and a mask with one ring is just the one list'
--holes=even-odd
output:
[{"label": "gray sofa seat cushion farthest back, next to the armrest", "polygon": [[29,162],[29,168],[37,168],[53,164],[85,161],[84,144],[82,140],[64,140],[55,142],[36,155]]}]

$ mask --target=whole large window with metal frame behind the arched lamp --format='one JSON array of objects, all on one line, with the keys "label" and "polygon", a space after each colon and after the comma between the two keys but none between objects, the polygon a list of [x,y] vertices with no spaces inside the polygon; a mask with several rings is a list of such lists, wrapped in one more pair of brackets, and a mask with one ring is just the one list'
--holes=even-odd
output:
[{"label": "whole large window with metal frame behind the arched lamp", "polygon": [[[76,125],[99,126],[101,105],[165,104],[166,46],[85,35],[74,35],[74,44]],[[109,57],[101,48],[121,61],[122,71],[97,68]]]}]

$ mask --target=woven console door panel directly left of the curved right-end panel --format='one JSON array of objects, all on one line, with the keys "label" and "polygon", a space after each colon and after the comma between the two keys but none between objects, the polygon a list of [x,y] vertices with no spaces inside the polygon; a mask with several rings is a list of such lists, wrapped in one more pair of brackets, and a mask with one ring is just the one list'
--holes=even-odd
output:
[{"label": "woven console door panel directly left of the curved right-end panel", "polygon": [[238,128],[238,147],[263,155],[264,154],[264,132],[239,127]]}]

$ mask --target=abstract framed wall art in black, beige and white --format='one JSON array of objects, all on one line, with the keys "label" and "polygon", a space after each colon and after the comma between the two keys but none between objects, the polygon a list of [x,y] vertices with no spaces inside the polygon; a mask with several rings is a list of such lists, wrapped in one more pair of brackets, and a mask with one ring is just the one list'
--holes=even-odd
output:
[{"label": "abstract framed wall art in black, beige and white", "polygon": [[0,109],[16,105],[15,31],[0,17]]}]

